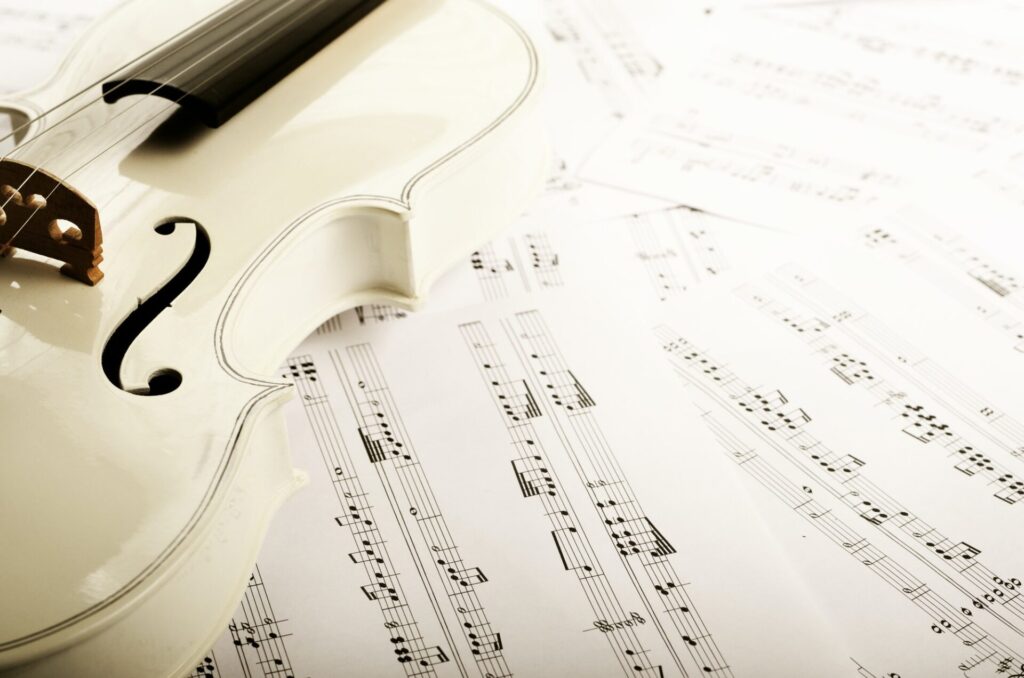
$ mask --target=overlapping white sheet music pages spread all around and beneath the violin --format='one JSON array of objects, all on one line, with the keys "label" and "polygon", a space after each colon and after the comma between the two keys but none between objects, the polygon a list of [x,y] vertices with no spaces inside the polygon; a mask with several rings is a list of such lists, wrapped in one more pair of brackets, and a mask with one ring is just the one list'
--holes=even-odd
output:
[{"label": "overlapping white sheet music pages spread all around and beneath the violin", "polygon": [[[281,367],[189,678],[1024,676],[1022,5],[501,4],[546,190]],[[23,5],[3,92],[99,8]]]}]

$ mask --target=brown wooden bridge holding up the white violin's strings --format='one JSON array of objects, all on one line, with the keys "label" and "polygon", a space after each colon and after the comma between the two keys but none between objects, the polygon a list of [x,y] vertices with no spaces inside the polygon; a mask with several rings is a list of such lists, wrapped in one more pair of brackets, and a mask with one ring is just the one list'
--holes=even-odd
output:
[{"label": "brown wooden bridge holding up the white violin's strings", "polygon": [[[61,227],[60,222],[72,225]],[[14,248],[62,261],[60,272],[86,285],[103,273],[99,212],[82,194],[51,174],[0,161],[0,257]]]}]

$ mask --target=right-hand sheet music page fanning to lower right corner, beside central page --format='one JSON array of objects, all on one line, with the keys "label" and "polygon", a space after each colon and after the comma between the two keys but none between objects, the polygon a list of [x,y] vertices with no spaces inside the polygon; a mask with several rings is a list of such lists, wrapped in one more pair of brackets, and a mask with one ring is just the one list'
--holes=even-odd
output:
[{"label": "right-hand sheet music page fanning to lower right corner, beside central page", "polygon": [[910,271],[865,277],[845,252],[814,260],[677,300],[656,330],[663,349],[766,500],[859,564],[858,587],[888,586],[872,604],[919,608],[918,621],[898,613],[918,633],[903,651],[934,645],[935,663],[900,675],[1019,671],[1024,563],[1006,535],[1024,500],[1020,366]]}]

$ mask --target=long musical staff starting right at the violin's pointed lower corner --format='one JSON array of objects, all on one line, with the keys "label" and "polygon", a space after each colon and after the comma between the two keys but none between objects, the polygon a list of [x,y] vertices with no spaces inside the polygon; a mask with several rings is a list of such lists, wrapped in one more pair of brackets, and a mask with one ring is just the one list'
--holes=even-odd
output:
[{"label": "long musical staff starting right at the violin's pointed lower corner", "polygon": [[393,564],[388,541],[375,517],[375,507],[370,503],[370,494],[342,438],[317,367],[311,356],[300,355],[291,358],[288,368],[287,376],[298,389],[337,505],[342,510],[334,522],[350,535],[355,551],[349,553],[349,559],[360,566],[365,581],[369,582],[359,588],[367,600],[376,603],[380,610],[388,647],[406,676],[435,676],[434,667],[447,662],[447,654],[440,646],[428,645],[420,632],[402,577]]}]

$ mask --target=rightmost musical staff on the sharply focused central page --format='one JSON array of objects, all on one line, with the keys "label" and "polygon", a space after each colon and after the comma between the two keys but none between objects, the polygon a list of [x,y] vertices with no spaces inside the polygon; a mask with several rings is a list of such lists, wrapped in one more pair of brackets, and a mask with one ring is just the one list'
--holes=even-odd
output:
[{"label": "rightmost musical staff on the sharply focused central page", "polygon": [[[676,665],[685,673],[677,648],[689,654],[698,672],[732,676],[670,556],[676,552],[654,527],[608,446],[594,414],[597,402],[569,370],[538,311],[517,313],[503,322],[505,334],[535,390],[547,394],[543,412],[566,441],[564,454],[597,512],[620,560],[644,600],[651,623],[663,634]],[[568,386],[568,389],[566,387]],[[654,609],[669,618],[669,629]],[[674,633],[670,637],[669,633]]]}]

